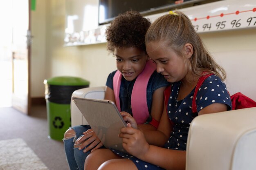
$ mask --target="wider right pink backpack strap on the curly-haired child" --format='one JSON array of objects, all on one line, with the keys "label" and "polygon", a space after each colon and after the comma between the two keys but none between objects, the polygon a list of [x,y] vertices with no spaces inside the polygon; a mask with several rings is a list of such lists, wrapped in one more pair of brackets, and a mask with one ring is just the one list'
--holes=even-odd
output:
[{"label": "wider right pink backpack strap on the curly-haired child", "polygon": [[132,115],[137,124],[144,124],[149,116],[147,104],[148,81],[156,70],[156,64],[148,60],[144,70],[138,75],[132,88],[131,105]]}]

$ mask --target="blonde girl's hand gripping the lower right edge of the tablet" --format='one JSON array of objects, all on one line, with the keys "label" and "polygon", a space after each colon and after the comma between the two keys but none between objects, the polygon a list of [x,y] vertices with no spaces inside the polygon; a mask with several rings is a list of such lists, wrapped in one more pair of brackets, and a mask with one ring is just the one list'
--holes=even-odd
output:
[{"label": "blonde girl's hand gripping the lower right edge of the tablet", "polygon": [[123,138],[124,149],[139,159],[144,157],[149,149],[149,144],[144,134],[140,130],[132,128],[129,123],[126,128],[121,128],[119,137]]}]

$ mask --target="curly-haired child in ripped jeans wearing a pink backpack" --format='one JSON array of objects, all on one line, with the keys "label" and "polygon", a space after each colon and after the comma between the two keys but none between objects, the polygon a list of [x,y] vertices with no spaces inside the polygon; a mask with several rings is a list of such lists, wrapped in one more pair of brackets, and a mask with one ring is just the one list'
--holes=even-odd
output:
[{"label": "curly-haired child in ripped jeans wearing a pink backpack", "polygon": [[[139,128],[149,130],[145,136],[150,142],[154,140],[150,130],[158,127],[163,92],[169,83],[146,53],[149,26],[149,20],[136,11],[119,14],[108,26],[107,49],[116,58],[117,70],[108,76],[105,99],[115,102],[121,114],[134,117]],[[69,128],[63,141],[71,170],[83,170],[89,153],[104,147],[88,125]]]}]

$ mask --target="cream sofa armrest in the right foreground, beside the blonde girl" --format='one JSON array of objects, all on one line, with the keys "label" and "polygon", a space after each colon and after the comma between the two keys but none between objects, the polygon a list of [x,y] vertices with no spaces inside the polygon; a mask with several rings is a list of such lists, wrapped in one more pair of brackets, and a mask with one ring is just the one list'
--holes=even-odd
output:
[{"label": "cream sofa armrest in the right foreground, beside the blonde girl", "polygon": [[186,170],[255,170],[256,107],[195,117]]}]

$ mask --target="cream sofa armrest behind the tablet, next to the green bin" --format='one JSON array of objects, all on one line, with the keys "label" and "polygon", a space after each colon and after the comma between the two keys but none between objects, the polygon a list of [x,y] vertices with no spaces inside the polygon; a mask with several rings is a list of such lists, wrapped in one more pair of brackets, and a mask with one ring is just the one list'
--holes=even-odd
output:
[{"label": "cream sofa armrest behind the tablet, next to the green bin", "polygon": [[[104,99],[105,88],[106,88],[105,86],[81,88],[74,91],[72,93],[72,97],[75,96],[75,97],[90,98],[90,99]],[[76,104],[74,104],[73,100],[71,100],[71,103],[70,103],[70,112],[71,112],[71,126],[88,124],[88,122],[85,120],[80,110],[77,108]]]}]

